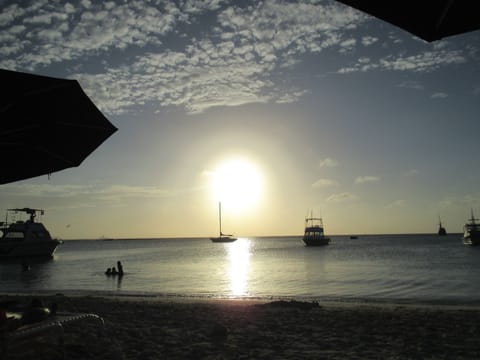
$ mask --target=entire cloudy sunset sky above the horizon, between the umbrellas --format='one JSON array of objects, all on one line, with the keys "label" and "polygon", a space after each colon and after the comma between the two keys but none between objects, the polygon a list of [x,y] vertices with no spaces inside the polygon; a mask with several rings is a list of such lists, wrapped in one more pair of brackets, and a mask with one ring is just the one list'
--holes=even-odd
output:
[{"label": "entire cloudy sunset sky above the horizon, between the umbrellas", "polygon": [[480,32],[336,1],[2,1],[0,68],[76,79],[118,128],[0,185],[65,240],[461,232],[480,217]]}]

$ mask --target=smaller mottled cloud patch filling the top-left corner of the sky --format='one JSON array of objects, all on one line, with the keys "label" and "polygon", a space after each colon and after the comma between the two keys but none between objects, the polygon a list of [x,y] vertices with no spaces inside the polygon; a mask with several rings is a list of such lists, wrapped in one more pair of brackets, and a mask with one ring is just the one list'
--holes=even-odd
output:
[{"label": "smaller mottled cloud patch filling the top-left corner of the sky", "polygon": [[[7,7],[0,17],[4,34],[12,34],[14,26],[8,25],[14,22],[27,26],[21,37],[2,41],[2,47],[22,43],[22,48],[10,54],[17,60],[17,69],[88,62],[89,57],[108,57],[107,52],[114,49],[159,44],[160,37],[184,21],[176,6],[162,1],[157,6],[138,0],[123,4],[84,0],[83,6],[76,7],[55,7],[47,1],[22,5]],[[0,65],[3,67],[3,61]]]}]

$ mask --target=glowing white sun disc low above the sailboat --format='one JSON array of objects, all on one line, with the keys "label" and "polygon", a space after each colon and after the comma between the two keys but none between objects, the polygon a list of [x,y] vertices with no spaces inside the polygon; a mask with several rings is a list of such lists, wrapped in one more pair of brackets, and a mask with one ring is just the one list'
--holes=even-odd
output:
[{"label": "glowing white sun disc low above the sailboat", "polygon": [[212,191],[222,205],[240,212],[255,207],[260,199],[262,177],[251,162],[243,159],[227,160],[212,175]]}]

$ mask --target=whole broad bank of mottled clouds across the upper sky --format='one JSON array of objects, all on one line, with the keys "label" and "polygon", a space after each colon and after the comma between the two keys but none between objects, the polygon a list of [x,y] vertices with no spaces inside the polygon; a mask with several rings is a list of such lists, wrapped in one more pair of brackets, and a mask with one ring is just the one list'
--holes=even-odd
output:
[{"label": "whole broad bank of mottled clouds across the upper sky", "polygon": [[[68,77],[78,79],[109,114],[148,102],[199,113],[298,101],[308,91],[285,81],[283,71],[297,66],[305,53],[351,49],[355,39],[346,33],[365,21],[363,14],[329,2],[267,0],[246,7],[221,0],[83,0],[81,5],[32,1],[7,7],[0,16],[0,66],[76,69]],[[208,27],[200,23],[204,15]],[[16,23],[26,28],[19,31]],[[281,82],[271,80],[279,75]]]}]

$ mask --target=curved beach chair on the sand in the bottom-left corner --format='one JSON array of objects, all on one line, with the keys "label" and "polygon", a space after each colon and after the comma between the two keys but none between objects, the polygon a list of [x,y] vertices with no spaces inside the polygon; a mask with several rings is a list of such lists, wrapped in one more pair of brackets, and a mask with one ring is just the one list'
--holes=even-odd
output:
[{"label": "curved beach chair on the sand in the bottom-left corner", "polygon": [[63,313],[59,312],[37,323],[21,326],[13,331],[4,331],[1,341],[0,358],[8,359],[9,354],[37,337],[56,338],[62,357],[65,358],[64,349],[64,326],[80,321],[93,320],[98,323],[100,333],[103,333],[105,323],[103,318],[96,314],[87,313]]}]

